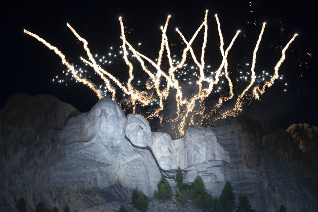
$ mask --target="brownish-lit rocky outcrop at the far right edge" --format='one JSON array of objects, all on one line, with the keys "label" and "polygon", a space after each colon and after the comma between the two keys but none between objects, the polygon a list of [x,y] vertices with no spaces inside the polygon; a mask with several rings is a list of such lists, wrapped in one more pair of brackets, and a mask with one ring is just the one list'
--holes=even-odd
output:
[{"label": "brownish-lit rocky outcrop at the far right edge", "polygon": [[318,177],[318,127],[293,124],[264,136],[261,145],[299,174]]}]

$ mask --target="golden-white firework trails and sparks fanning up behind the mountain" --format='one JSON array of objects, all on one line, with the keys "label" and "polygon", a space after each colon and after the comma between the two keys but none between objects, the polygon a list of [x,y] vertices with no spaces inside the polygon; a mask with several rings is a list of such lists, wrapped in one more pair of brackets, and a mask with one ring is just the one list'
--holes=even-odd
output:
[{"label": "golden-white firework trails and sparks fanning up behind the mountain", "polygon": [[[118,101],[118,99],[116,99],[116,89],[117,92],[119,89],[123,93],[123,96],[125,96],[125,99],[122,101],[124,111],[126,110],[125,108],[129,108],[133,113],[136,113],[137,106],[145,107],[155,104],[156,107],[153,108],[153,110],[149,110],[148,112],[143,113],[142,116],[147,120],[152,120],[157,117],[160,119],[160,125],[162,125],[162,122],[169,122],[172,129],[175,130],[175,134],[183,136],[186,126],[201,126],[203,123],[211,124],[213,121],[220,118],[226,118],[227,116],[236,116],[238,112],[242,111],[242,106],[247,100],[259,100],[259,96],[265,92],[266,87],[272,86],[274,84],[274,81],[279,78],[278,70],[282,62],[285,60],[285,51],[297,36],[297,34],[295,34],[283,48],[281,52],[281,58],[274,67],[273,75],[269,79],[263,81],[262,84],[258,84],[256,83],[256,73],[254,69],[256,64],[257,51],[259,49],[259,44],[265,30],[266,23],[264,23],[260,31],[258,41],[255,45],[255,49],[253,51],[249,82],[241,92],[235,94],[233,91],[231,76],[228,72],[227,56],[240,31],[237,31],[237,33],[232,38],[229,46],[225,48],[221,32],[221,25],[218,20],[218,16],[215,15],[218,25],[218,34],[220,37],[219,49],[223,59],[215,72],[207,72],[207,67],[204,61],[205,47],[207,44],[208,35],[207,16],[208,10],[206,10],[204,22],[199,26],[199,28],[189,41],[186,40],[181,31],[176,29],[176,32],[180,35],[180,39],[182,40],[183,44],[186,45],[186,47],[182,51],[181,60],[177,62],[174,59],[175,56],[171,56],[168,37],[166,35],[170,16],[168,16],[165,25],[161,27],[162,41],[159,50],[159,56],[158,58],[156,58],[155,61],[136,51],[134,47],[126,40],[125,27],[120,17],[119,21],[121,26],[122,40],[121,55],[129,69],[127,73],[128,79],[125,81],[118,80],[116,76],[111,74],[108,70],[102,68],[102,66],[95,60],[96,56],[94,58],[91,54],[90,49],[88,48],[88,42],[84,38],[82,38],[71,27],[70,24],[67,24],[68,28],[73,32],[76,38],[83,43],[83,47],[88,56],[88,59],[82,57],[80,59],[86,65],[89,65],[91,67],[91,72],[96,73],[100,77],[100,79],[103,81],[103,85],[97,85],[97,82],[92,81],[90,77],[86,77],[87,75],[85,75],[81,69],[77,69],[76,66],[71,65],[66,60],[66,56],[62,54],[62,52],[59,51],[57,47],[52,46],[43,38],[40,38],[38,35],[33,34],[30,31],[24,30],[24,32],[45,44],[49,49],[53,50],[61,58],[62,63],[67,66],[68,70],[66,74],[71,73],[72,77],[76,81],[87,85],[90,89],[93,90],[93,92],[95,92],[99,99],[102,99],[106,96],[105,92],[102,89],[103,87],[109,92],[111,98],[115,101]],[[201,48],[201,56],[197,58],[191,45],[193,44],[194,40],[196,39],[198,33],[202,30],[202,28],[204,28],[203,44]],[[144,74],[146,75],[146,78],[148,79],[145,80],[145,82],[142,82],[139,79],[135,79],[134,65],[129,60],[131,59],[131,57],[128,57],[129,52],[134,58],[139,61],[140,66]],[[169,63],[169,67],[165,68],[165,70],[163,70],[162,64],[164,52]],[[189,70],[182,70],[184,66],[187,65],[186,60],[190,57],[197,65],[196,70],[198,70],[199,73],[196,74],[196,79],[192,79],[192,81],[187,81],[185,83],[184,79],[179,79],[179,77],[180,72],[188,72],[188,74],[189,72],[191,72]],[[151,68],[149,68],[148,65],[151,66]],[[85,72],[87,71],[85,70]],[[224,84],[224,81],[226,81],[226,85]],[[216,92],[217,89],[219,89],[217,85],[221,84],[221,82],[223,83],[222,86],[228,87],[228,93],[226,95],[220,96],[213,106],[207,107],[205,105],[206,99],[210,98],[213,92]],[[145,89],[138,89],[137,83],[138,85],[143,84]],[[189,87],[186,84],[191,83],[194,84],[192,88],[194,88],[196,91],[191,93],[191,95],[184,95],[185,92],[183,89]],[[170,98],[168,99],[169,95]],[[165,103],[167,103],[167,101],[171,101],[171,95],[173,95],[173,99],[176,103],[176,111],[173,117],[166,117],[163,115],[163,112],[164,110],[169,110],[170,108],[166,108]],[[221,106],[224,105],[225,102],[233,99],[234,96],[236,100],[234,99],[235,103],[233,104],[234,106],[232,106],[232,108],[229,108],[227,110],[219,110],[217,112],[218,108],[221,108]]]}]

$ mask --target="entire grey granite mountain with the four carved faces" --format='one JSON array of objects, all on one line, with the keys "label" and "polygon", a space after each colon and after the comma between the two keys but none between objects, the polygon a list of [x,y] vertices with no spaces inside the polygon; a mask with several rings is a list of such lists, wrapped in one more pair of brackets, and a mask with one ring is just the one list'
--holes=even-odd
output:
[{"label": "entire grey granite mountain with the four carved faces", "polygon": [[0,110],[0,211],[14,211],[20,197],[29,211],[40,201],[60,210],[117,211],[129,208],[133,189],[151,200],[162,177],[176,187],[178,170],[184,183],[202,179],[213,198],[229,181],[257,211],[281,204],[314,211],[318,183],[299,171],[297,155],[315,159],[316,128],[292,129],[262,140],[261,125],[238,116],[172,140],[110,99],[79,113],[53,96],[16,94]]}]

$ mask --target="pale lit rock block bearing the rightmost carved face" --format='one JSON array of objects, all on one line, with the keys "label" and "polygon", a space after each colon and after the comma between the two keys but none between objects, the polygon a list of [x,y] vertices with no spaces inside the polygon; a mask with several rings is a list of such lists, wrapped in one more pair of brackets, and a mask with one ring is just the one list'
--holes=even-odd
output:
[{"label": "pale lit rock block bearing the rightmost carved face", "polygon": [[182,169],[184,182],[192,183],[197,177],[209,183],[224,182],[220,166],[230,158],[217,142],[217,133],[215,127],[194,127],[187,130],[184,138],[173,141],[172,168]]}]

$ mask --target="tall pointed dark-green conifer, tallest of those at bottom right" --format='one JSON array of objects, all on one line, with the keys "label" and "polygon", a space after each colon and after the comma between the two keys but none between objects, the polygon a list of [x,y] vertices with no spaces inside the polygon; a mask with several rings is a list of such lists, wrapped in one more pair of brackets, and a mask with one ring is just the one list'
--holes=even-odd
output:
[{"label": "tall pointed dark-green conifer, tallest of those at bottom right", "polygon": [[226,182],[219,198],[221,202],[221,209],[223,211],[233,211],[235,207],[235,195],[231,183]]}]

